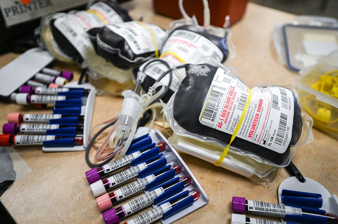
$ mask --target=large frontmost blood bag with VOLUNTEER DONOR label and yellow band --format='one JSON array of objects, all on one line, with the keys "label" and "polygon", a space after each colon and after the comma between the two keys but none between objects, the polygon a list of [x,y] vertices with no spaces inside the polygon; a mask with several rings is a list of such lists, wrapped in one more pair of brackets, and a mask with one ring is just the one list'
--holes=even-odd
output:
[{"label": "large frontmost blood bag with VOLUNTEER DONOR label and yellow band", "polygon": [[186,64],[185,73],[165,109],[177,135],[224,148],[231,143],[229,151],[277,167],[289,164],[291,146],[311,141],[313,121],[292,86],[249,89],[217,63]]}]

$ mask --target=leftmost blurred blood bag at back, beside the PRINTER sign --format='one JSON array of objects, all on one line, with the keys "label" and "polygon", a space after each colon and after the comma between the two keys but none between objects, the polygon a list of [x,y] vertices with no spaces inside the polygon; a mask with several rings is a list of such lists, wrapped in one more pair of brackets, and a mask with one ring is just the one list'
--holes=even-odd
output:
[{"label": "leftmost blurred blood bag at back, beside the PRINTER sign", "polygon": [[113,0],[95,0],[85,11],[56,13],[43,18],[35,31],[38,44],[46,47],[58,60],[81,64],[85,51],[91,46],[86,33],[107,23],[131,21],[128,12]]}]

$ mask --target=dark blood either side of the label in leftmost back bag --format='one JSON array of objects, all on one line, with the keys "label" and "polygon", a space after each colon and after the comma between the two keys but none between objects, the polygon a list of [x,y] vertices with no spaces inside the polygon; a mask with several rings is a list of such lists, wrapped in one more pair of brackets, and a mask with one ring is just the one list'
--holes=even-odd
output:
[{"label": "dark blood either side of the label in leftmost back bag", "polygon": [[[92,2],[91,5],[97,3],[97,2],[103,2],[105,4],[107,4],[108,6],[110,6],[114,11],[117,12],[117,14],[120,15],[120,17],[122,18],[122,20],[124,22],[126,21],[131,21],[132,19],[130,18],[130,16],[128,15],[128,12],[123,9],[119,3],[114,2],[112,0],[96,0],[94,2]],[[89,7],[90,9],[90,7]],[[53,37],[56,41],[56,43],[58,44],[58,46],[61,48],[61,50],[69,57],[74,58],[76,60],[78,60],[79,62],[82,62],[83,59],[82,57],[79,55],[78,51],[75,49],[75,47],[69,42],[69,40],[54,26],[54,22],[56,19],[52,19],[50,20],[49,24],[50,24],[50,28],[51,28],[51,32],[53,34]]]}]

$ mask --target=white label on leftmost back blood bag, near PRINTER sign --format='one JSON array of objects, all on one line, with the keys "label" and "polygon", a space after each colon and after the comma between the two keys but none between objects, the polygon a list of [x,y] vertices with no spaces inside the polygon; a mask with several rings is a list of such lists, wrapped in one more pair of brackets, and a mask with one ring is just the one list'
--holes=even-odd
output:
[{"label": "white label on leftmost back blood bag, near PRINTER sign", "polygon": [[93,27],[100,27],[109,23],[122,23],[119,14],[109,5],[97,2],[86,11],[67,14],[55,20],[54,26],[67,38],[84,58],[86,47],[91,45],[86,33]]}]

